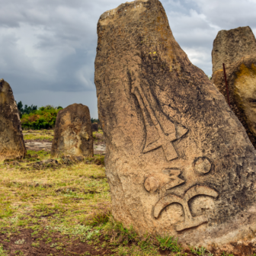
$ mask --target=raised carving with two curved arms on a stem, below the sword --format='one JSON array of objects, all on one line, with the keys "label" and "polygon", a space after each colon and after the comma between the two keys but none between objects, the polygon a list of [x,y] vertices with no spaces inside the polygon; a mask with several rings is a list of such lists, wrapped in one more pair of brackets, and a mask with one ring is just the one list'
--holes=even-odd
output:
[{"label": "raised carving with two curved arms on a stem, below the sword", "polygon": [[158,203],[156,203],[155,205],[154,216],[156,219],[158,219],[158,217],[160,216],[160,213],[162,212],[162,210],[165,209],[166,206],[170,205],[171,203],[180,203],[184,209],[185,219],[184,219],[184,222],[181,222],[177,225],[176,227],[177,231],[193,228],[203,224],[204,222],[208,222],[207,216],[201,215],[201,216],[193,217],[190,213],[188,201],[191,198],[199,195],[206,195],[214,198],[218,197],[218,193],[215,190],[211,189],[210,187],[204,187],[204,186],[191,187],[189,190],[187,190],[187,193],[185,194],[184,198],[178,197],[173,194],[168,194],[167,196],[159,200]]}]

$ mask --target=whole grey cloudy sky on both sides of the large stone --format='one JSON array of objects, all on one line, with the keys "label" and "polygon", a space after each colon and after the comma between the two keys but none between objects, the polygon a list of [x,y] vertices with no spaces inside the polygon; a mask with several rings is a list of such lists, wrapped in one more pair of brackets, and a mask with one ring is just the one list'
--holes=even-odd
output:
[{"label": "whole grey cloudy sky on both sides of the large stone", "polygon": [[[0,0],[0,78],[16,101],[38,107],[87,105],[98,117],[94,86],[98,18],[123,0]],[[256,0],[162,0],[175,39],[194,65],[212,74],[219,30],[250,26]]]}]

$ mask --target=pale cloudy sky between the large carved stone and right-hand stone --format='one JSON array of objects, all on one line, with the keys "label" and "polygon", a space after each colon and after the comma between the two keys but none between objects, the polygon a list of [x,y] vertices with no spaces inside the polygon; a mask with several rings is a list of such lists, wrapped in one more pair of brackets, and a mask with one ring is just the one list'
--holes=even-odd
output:
[{"label": "pale cloudy sky between the large carved stone and right-hand stone", "polygon": [[[256,32],[255,0],[180,0],[183,8],[173,10],[163,1],[175,39],[190,61],[207,75],[212,73],[211,51],[219,30],[250,26]],[[166,4],[166,5],[165,5]],[[184,11],[186,9],[186,11]]]}]

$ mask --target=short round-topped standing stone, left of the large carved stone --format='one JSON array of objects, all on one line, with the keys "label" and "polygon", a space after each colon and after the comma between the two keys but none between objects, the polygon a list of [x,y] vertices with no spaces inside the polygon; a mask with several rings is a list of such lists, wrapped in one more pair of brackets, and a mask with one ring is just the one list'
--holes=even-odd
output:
[{"label": "short round-topped standing stone, left of the large carved stone", "polygon": [[59,110],[51,155],[94,155],[91,117],[87,106],[72,104]]}]

